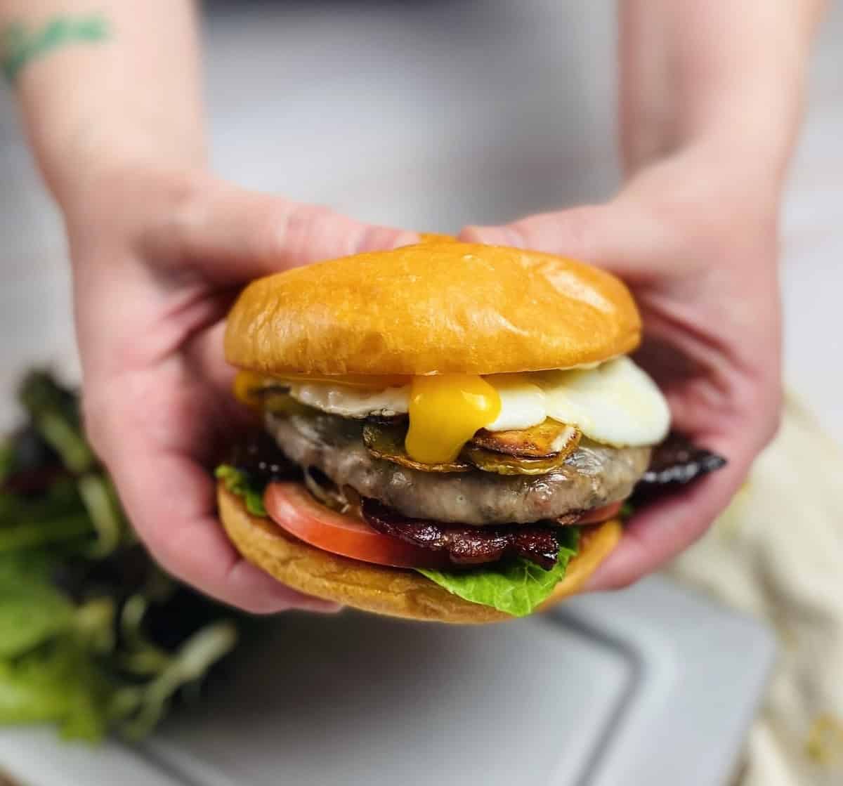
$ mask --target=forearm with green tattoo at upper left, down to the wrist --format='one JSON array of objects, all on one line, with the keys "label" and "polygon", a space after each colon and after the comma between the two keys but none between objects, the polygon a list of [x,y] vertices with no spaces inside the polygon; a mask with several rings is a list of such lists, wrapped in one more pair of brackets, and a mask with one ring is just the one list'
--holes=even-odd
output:
[{"label": "forearm with green tattoo at upper left, down to the wrist", "polygon": [[[59,0],[10,5],[4,19],[35,42],[15,89],[35,158],[62,206],[100,172],[205,165],[194,3],[104,0],[96,13]],[[94,21],[94,38],[48,35]]]}]

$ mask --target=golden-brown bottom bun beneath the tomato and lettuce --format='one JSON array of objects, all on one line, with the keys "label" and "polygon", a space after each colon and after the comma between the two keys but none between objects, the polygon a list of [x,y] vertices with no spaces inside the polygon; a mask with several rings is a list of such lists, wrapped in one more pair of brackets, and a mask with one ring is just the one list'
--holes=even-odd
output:
[{"label": "golden-brown bottom bun beneath the tomato and lettuce", "polygon": [[[241,499],[222,484],[217,486],[217,500],[223,527],[240,554],[299,592],[362,611],[416,620],[481,623],[515,619],[491,606],[451,595],[414,570],[362,563],[308,546],[271,519],[251,515]],[[577,593],[615,548],[620,535],[616,519],[583,530],[577,556],[540,611]]]}]

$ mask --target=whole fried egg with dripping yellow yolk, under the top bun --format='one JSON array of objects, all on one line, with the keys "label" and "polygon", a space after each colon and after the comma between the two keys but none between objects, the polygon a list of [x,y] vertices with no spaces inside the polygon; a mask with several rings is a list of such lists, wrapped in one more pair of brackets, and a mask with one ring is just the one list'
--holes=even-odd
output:
[{"label": "whole fried egg with dripping yellow yolk, under the top bun", "polygon": [[408,453],[427,463],[454,460],[480,428],[519,430],[547,417],[618,448],[656,444],[670,427],[661,391],[626,357],[526,374],[439,374],[382,388],[308,380],[292,382],[290,393],[342,417],[409,412]]}]

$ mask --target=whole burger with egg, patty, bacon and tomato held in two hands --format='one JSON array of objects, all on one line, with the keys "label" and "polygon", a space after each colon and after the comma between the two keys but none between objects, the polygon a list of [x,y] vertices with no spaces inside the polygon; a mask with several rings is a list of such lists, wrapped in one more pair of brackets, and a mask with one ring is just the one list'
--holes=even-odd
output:
[{"label": "whole burger with egg, patty, bacon and tomato held in two hands", "polygon": [[434,238],[261,278],[228,315],[234,393],[262,428],[217,468],[222,524],[346,606],[545,609],[618,543],[636,487],[722,463],[664,442],[667,402],[628,357],[641,333],[608,272],[500,246]]}]

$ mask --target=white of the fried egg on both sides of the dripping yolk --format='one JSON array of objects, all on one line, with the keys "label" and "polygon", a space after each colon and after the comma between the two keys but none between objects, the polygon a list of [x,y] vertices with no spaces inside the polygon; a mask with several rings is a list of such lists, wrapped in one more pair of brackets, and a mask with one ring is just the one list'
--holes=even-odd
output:
[{"label": "white of the fried egg on both sides of the dripping yolk", "polygon": [[[501,397],[501,412],[489,431],[538,425],[550,417],[576,426],[590,439],[615,447],[656,444],[668,433],[667,401],[630,358],[614,358],[592,368],[491,374],[484,379]],[[369,390],[308,382],[290,394],[308,406],[342,417],[391,416],[407,412],[410,385]]]}]

